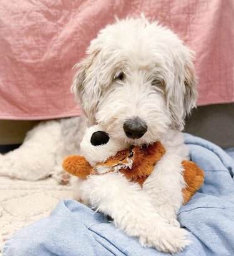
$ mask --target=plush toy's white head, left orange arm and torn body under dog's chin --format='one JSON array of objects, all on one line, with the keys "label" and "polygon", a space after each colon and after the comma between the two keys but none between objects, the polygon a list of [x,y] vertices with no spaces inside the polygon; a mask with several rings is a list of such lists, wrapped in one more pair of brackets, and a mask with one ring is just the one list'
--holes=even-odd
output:
[{"label": "plush toy's white head, left orange arm and torn body under dog's chin", "polygon": [[120,172],[140,185],[165,153],[160,142],[142,146],[122,144],[99,125],[87,128],[80,150],[83,156],[70,155],[64,159],[63,167],[70,174],[84,179],[90,174]]}]

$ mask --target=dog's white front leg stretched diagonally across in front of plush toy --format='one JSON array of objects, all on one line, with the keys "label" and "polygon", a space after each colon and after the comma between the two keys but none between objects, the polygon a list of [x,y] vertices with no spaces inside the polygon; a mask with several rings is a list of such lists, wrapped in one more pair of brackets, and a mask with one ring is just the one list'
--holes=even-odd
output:
[{"label": "dog's white front leg stretched diagonally across in front of plush toy", "polygon": [[93,207],[110,215],[117,228],[139,237],[143,246],[175,253],[189,244],[188,232],[169,225],[157,214],[149,195],[121,174],[91,175],[81,189]]}]

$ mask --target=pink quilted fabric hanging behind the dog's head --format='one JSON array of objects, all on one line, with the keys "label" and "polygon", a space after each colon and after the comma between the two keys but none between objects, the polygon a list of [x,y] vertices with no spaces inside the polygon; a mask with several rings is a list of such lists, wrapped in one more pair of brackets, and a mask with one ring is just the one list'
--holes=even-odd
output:
[{"label": "pink quilted fabric hanging behind the dog's head", "polygon": [[141,12],[197,52],[198,104],[233,102],[233,6],[233,0],[1,0],[0,118],[80,114],[70,92],[72,66],[114,14]]}]

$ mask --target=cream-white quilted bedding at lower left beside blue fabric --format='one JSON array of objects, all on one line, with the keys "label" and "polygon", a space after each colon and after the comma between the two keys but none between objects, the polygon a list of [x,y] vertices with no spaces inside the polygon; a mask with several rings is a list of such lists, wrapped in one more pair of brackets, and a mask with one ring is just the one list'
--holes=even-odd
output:
[{"label": "cream-white quilted bedding at lower left beside blue fabric", "polygon": [[0,177],[0,255],[16,230],[49,215],[59,200],[71,198],[70,185],[49,178],[39,181]]}]

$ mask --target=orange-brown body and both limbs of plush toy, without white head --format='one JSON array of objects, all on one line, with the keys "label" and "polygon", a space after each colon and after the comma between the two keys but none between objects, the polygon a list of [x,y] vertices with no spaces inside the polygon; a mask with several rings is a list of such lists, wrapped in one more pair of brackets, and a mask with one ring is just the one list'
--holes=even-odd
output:
[{"label": "orange-brown body and both limbs of plush toy, without white head", "polygon": [[[85,157],[70,155],[64,159],[64,170],[81,179],[88,175],[100,175],[107,172],[120,172],[131,182],[138,182],[140,186],[154,169],[154,165],[165,154],[165,149],[160,142],[154,142],[147,147],[132,147],[132,149],[120,150],[105,162],[90,165]],[[183,178],[187,187],[182,190],[184,204],[188,202],[195,192],[200,189],[204,181],[203,170],[192,161],[183,160]]]}]

